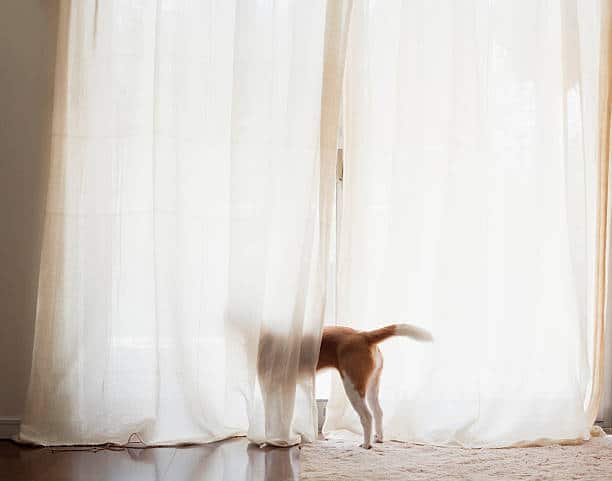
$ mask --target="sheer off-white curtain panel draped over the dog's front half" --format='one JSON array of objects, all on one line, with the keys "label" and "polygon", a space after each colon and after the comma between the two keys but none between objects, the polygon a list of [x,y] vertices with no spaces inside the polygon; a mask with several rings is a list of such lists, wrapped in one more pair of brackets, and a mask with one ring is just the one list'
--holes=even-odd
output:
[{"label": "sheer off-white curtain panel draped over the dog's front half", "polygon": [[314,438],[345,8],[61,2],[22,440]]}]

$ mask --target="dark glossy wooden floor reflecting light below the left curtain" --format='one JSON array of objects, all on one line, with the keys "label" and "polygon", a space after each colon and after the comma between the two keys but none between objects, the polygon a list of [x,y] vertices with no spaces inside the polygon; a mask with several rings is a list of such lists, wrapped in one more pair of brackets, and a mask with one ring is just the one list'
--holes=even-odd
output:
[{"label": "dark glossy wooden floor reflecting light below the left curtain", "polygon": [[0,441],[0,481],[297,481],[299,453],[298,447],[261,449],[246,439],[97,451]]}]

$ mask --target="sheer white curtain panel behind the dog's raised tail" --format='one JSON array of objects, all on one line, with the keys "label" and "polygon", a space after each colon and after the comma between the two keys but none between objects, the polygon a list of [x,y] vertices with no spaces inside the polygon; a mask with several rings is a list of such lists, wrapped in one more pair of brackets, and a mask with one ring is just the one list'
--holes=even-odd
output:
[{"label": "sheer white curtain panel behind the dog's raised tail", "polygon": [[435,337],[382,346],[387,438],[589,436],[605,1],[354,5],[337,321]]}]

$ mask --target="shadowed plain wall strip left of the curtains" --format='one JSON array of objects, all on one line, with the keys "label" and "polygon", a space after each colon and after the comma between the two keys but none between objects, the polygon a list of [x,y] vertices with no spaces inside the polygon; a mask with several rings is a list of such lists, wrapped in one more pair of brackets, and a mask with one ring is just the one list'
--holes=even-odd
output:
[{"label": "shadowed plain wall strip left of the curtains", "polygon": [[59,0],[0,0],[0,435],[30,370]]}]

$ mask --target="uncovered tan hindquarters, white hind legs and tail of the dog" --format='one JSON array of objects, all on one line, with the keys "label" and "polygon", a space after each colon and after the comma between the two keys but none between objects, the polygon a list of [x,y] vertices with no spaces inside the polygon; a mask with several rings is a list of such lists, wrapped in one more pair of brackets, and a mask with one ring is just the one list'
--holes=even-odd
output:
[{"label": "uncovered tan hindquarters, white hind legs and tail of the dog", "polygon": [[317,371],[335,368],[340,373],[346,395],[363,427],[361,447],[365,449],[371,447],[372,417],[374,440],[377,443],[383,442],[383,412],[378,399],[383,357],[378,343],[392,336],[433,341],[429,332],[409,324],[393,324],[374,331],[356,331],[339,326],[323,329]]}]

